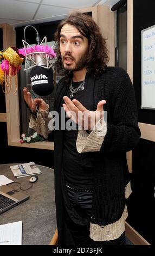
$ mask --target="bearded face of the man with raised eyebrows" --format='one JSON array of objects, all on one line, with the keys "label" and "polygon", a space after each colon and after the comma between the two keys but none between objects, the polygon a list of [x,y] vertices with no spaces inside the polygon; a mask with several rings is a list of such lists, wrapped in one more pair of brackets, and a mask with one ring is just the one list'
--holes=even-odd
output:
[{"label": "bearded face of the man with raised eyebrows", "polygon": [[82,70],[86,66],[88,39],[76,27],[66,24],[60,32],[60,52],[64,69]]}]

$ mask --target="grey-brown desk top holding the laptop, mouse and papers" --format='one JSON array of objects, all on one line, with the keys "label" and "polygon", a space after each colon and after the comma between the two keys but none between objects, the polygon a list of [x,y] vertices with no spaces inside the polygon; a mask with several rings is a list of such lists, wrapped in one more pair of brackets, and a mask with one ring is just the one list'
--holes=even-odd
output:
[{"label": "grey-brown desk top holding the laptop, mouse and papers", "polygon": [[[22,188],[28,188],[30,176],[15,178],[10,169],[15,164],[0,164],[0,174],[20,182]],[[22,221],[22,245],[49,245],[56,229],[54,170],[40,165],[38,168],[42,173],[38,174],[33,187],[21,191],[30,198],[0,215],[0,224]],[[10,183],[8,186],[19,189],[20,184]]]}]

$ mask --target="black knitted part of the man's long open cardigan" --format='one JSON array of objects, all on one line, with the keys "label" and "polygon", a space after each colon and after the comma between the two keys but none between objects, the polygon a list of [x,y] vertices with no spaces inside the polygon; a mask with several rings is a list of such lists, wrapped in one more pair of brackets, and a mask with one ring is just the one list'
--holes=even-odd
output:
[{"label": "black knitted part of the man's long open cardigan", "polygon": [[[130,181],[126,152],[139,142],[137,104],[134,88],[127,72],[121,68],[107,67],[104,74],[95,78],[93,110],[100,100],[106,100],[107,134],[95,156],[94,192],[91,222],[107,225],[113,223],[124,211],[125,186]],[[55,111],[60,112],[63,96],[68,86],[64,78],[59,82],[55,97]],[[54,131],[55,202],[59,245],[72,245],[72,236],[64,222],[64,201],[61,189],[63,131]],[[87,154],[87,153],[83,153]]]}]

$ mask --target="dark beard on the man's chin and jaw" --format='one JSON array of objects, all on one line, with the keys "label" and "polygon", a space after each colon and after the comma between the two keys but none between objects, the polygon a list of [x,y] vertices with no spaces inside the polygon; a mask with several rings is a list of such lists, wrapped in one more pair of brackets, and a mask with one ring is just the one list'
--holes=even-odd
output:
[{"label": "dark beard on the man's chin and jaw", "polygon": [[[73,58],[71,55],[69,55],[69,54],[67,54],[67,56],[69,57],[71,57],[71,58]],[[68,71],[80,71],[80,70],[82,70],[83,68],[85,68],[85,66],[86,66],[86,64],[87,64],[87,57],[88,57],[88,51],[87,52],[85,52],[84,54],[83,54],[83,56],[80,58],[80,59],[78,59],[78,61],[77,62],[75,62],[75,66],[72,68],[69,64],[67,65],[66,64],[66,66],[65,66],[65,68],[64,68],[64,65],[63,65],[63,68],[64,69],[66,69],[66,70],[68,70]],[[65,58],[65,56],[63,57],[63,58]],[[74,58],[74,60],[75,60],[75,58]]]}]

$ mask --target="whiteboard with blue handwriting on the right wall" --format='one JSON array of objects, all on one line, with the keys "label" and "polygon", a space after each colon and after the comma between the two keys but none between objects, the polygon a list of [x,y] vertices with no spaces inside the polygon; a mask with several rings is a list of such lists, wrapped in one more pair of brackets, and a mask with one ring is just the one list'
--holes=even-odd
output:
[{"label": "whiteboard with blue handwriting on the right wall", "polygon": [[141,108],[155,109],[155,25],[141,31]]}]

